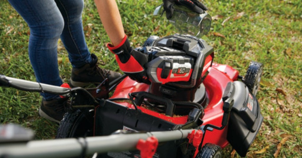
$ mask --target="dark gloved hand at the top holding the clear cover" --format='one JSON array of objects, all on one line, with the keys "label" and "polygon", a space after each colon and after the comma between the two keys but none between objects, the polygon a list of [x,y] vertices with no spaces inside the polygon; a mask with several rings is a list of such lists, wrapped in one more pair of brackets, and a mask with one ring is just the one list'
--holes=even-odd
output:
[{"label": "dark gloved hand at the top holding the clear cover", "polygon": [[167,19],[170,19],[173,15],[173,5],[183,5],[190,9],[191,11],[194,11],[195,13],[201,14],[204,13],[204,11],[207,11],[208,8],[199,2],[198,0],[162,0],[164,2],[164,9],[166,11]]}]

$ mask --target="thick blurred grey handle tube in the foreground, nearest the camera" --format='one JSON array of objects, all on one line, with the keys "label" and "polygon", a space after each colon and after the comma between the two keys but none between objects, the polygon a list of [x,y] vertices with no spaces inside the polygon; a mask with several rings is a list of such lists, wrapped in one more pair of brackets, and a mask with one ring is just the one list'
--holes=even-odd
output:
[{"label": "thick blurred grey handle tube in the foreground, nearest the camera", "polygon": [[0,144],[0,157],[53,158],[82,157],[84,154],[133,150],[140,139],[156,137],[159,143],[185,139],[194,129],[146,133],[114,134],[86,138],[36,140],[27,143]]}]

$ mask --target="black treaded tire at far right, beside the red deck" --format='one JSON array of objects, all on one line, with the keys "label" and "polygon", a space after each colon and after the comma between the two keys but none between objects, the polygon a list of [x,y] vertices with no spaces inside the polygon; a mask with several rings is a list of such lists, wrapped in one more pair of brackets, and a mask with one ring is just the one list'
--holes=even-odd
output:
[{"label": "black treaded tire at far right, beside the red deck", "polygon": [[260,80],[262,76],[263,65],[261,63],[252,61],[246,71],[246,75],[243,82],[249,88],[252,94],[256,96],[260,86]]}]

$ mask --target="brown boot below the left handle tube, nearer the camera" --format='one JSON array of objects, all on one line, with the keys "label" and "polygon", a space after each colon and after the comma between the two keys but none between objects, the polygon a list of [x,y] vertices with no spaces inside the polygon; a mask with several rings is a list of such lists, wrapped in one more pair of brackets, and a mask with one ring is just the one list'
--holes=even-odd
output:
[{"label": "brown boot below the left handle tube, nearer the camera", "polygon": [[66,113],[68,98],[57,98],[46,101],[42,99],[39,115],[50,121],[60,123]]}]

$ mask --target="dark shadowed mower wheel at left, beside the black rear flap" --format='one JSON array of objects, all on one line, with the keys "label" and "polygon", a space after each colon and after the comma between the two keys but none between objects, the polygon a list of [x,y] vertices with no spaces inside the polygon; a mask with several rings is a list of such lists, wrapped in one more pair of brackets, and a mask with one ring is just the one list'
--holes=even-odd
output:
[{"label": "dark shadowed mower wheel at left, beside the black rear flap", "polygon": [[66,113],[60,122],[56,138],[93,136],[94,109],[78,109]]}]

